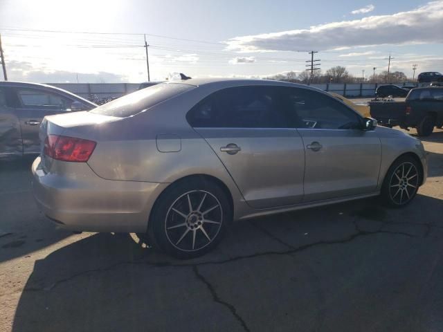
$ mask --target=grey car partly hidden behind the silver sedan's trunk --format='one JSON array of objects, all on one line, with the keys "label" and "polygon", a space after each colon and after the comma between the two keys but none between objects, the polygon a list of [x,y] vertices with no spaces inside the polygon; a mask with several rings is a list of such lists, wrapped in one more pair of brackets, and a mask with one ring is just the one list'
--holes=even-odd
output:
[{"label": "grey car partly hidden behind the silver sedan's trunk", "polygon": [[36,83],[0,82],[0,157],[38,154],[45,116],[97,107],[68,91]]}]

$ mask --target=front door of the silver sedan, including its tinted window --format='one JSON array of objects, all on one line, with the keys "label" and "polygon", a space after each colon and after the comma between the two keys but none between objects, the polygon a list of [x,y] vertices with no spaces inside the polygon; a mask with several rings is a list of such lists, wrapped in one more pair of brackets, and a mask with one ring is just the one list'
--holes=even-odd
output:
[{"label": "front door of the silver sedan, including its tinted window", "polygon": [[381,142],[361,116],[325,93],[293,88],[294,127],[305,146],[304,201],[376,192]]}]

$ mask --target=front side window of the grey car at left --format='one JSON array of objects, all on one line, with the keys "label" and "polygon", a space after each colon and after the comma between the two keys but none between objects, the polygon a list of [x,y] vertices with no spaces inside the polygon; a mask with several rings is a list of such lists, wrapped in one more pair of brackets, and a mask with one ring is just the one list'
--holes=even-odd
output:
[{"label": "front side window of the grey car at left", "polygon": [[17,91],[19,100],[24,107],[48,107],[64,109],[71,104],[71,100],[55,93],[35,89],[21,89]]}]

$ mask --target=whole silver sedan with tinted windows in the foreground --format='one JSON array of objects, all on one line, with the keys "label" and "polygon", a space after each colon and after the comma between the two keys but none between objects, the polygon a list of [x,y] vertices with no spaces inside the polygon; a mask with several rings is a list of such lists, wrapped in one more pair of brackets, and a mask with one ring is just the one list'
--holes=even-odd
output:
[{"label": "whole silver sedan with tinted windows in the foreground", "polygon": [[422,143],[309,86],[192,79],[45,118],[35,198],[64,228],[136,232],[179,258],[240,219],[381,196],[426,181]]}]

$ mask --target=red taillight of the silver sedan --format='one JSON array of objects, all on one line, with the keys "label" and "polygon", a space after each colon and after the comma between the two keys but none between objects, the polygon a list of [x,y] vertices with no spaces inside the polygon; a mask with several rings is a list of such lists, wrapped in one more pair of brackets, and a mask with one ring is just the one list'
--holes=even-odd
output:
[{"label": "red taillight of the silver sedan", "polygon": [[48,135],[44,141],[43,152],[51,158],[72,161],[86,162],[96,148],[96,142],[59,135]]}]

